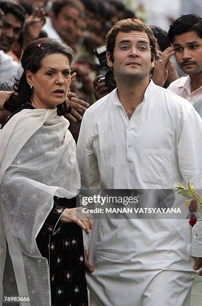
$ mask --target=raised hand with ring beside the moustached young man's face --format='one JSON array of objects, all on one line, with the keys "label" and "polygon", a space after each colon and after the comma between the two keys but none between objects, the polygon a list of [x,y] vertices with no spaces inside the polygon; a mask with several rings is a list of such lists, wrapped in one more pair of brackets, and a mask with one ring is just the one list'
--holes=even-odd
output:
[{"label": "raised hand with ring beside the moustached young man's face", "polygon": [[168,76],[169,60],[175,51],[173,47],[166,48],[155,62],[152,80],[156,85],[163,86]]}]

